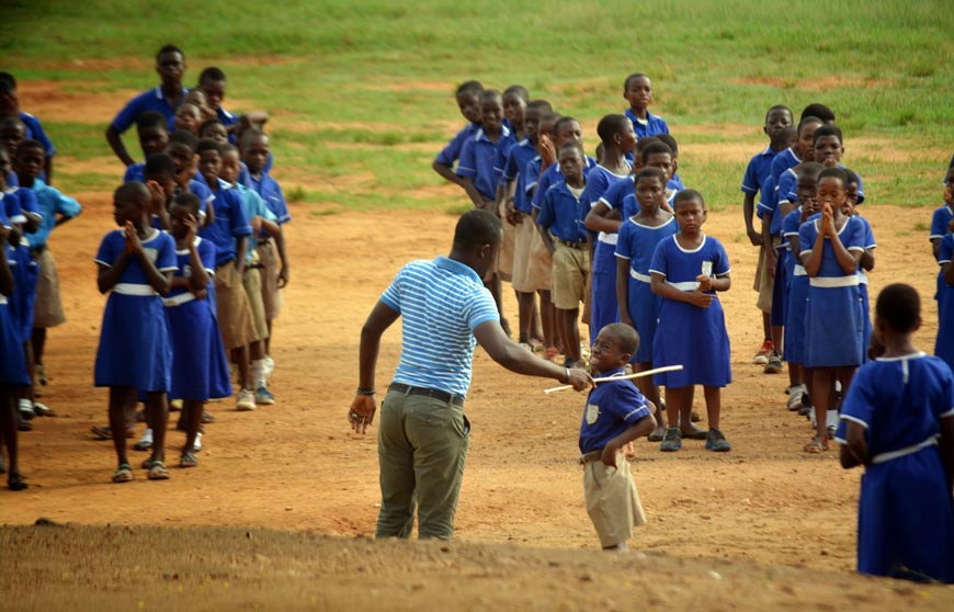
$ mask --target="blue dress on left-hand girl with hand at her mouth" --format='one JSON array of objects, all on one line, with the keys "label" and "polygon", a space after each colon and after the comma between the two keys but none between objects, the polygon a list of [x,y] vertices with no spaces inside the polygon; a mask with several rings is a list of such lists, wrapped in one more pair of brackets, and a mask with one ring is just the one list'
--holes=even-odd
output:
[{"label": "blue dress on left-hand girl with hand at her mouth", "polygon": [[[214,288],[215,245],[195,238],[198,258],[208,274],[208,288]],[[175,277],[192,277],[189,249],[175,251]],[[162,299],[169,319],[172,341],[172,387],[178,399],[205,401],[231,395],[228,361],[218,331],[215,303],[207,297],[196,299],[182,287],[171,290]]]}]

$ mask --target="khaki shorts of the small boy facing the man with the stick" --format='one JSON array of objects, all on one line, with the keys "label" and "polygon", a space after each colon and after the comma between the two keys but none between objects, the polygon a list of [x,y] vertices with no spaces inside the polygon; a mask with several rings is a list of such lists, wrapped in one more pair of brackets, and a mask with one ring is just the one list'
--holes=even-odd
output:
[{"label": "khaki shorts of the small boy facing the man with the stick", "polygon": [[601,461],[583,464],[583,492],[587,514],[597,528],[602,547],[617,546],[633,536],[633,528],[646,524],[639,491],[623,453],[616,468]]}]

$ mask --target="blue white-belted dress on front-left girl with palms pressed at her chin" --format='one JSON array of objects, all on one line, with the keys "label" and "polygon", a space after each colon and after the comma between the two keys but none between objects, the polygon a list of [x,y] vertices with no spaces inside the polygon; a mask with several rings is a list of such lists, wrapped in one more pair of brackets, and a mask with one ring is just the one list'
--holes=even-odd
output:
[{"label": "blue white-belted dress on front-left girl with palms pressed at her chin", "polygon": [[[143,248],[160,272],[177,270],[175,241],[164,231],[152,228]],[[95,261],[112,267],[125,249],[123,230],[114,229],[103,238]],[[106,299],[93,375],[95,386],[168,392],[171,369],[172,345],[162,298],[147,282],[139,258],[130,256]]]}]

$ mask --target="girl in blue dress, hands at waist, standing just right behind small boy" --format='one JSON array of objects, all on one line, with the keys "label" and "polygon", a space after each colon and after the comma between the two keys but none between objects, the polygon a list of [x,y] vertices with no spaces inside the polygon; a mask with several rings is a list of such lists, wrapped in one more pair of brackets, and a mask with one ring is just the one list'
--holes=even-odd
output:
[{"label": "girl in blue dress, hands at waist, standing just right behind small boy", "polygon": [[696,435],[690,419],[692,387],[702,385],[709,427],[705,447],[725,452],[731,445],[719,429],[722,387],[731,382],[731,369],[729,337],[716,292],[731,286],[729,259],[722,242],[702,231],[706,212],[701,193],[679,192],[673,212],[679,233],[656,247],[649,265],[650,288],[662,298],[652,340],[652,364],[683,366],[654,376],[657,385],[666,386],[669,420],[659,449],[681,449],[682,431]]}]

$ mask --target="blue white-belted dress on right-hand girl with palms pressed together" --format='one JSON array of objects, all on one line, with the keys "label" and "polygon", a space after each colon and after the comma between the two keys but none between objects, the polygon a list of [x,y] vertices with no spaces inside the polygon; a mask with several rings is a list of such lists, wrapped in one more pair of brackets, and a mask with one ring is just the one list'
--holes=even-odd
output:
[{"label": "blue white-belted dress on right-hand girl with palms pressed together", "polygon": [[[802,259],[815,248],[821,215],[798,228]],[[850,217],[838,233],[849,251],[864,250],[864,226]],[[822,245],[818,275],[808,279],[805,306],[805,361],[808,367],[849,367],[864,360],[864,313],[855,272],[845,274],[834,258],[831,240]]]}]

